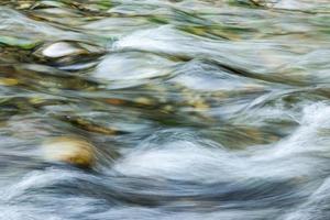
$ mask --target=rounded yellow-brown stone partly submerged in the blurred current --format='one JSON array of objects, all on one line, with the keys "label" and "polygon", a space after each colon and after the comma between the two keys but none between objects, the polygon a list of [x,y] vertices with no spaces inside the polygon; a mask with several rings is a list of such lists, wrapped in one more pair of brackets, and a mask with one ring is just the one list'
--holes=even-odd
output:
[{"label": "rounded yellow-brown stone partly submerged in the blurred current", "polygon": [[76,136],[46,140],[42,144],[42,151],[46,161],[68,163],[78,167],[91,167],[96,161],[95,146]]}]

